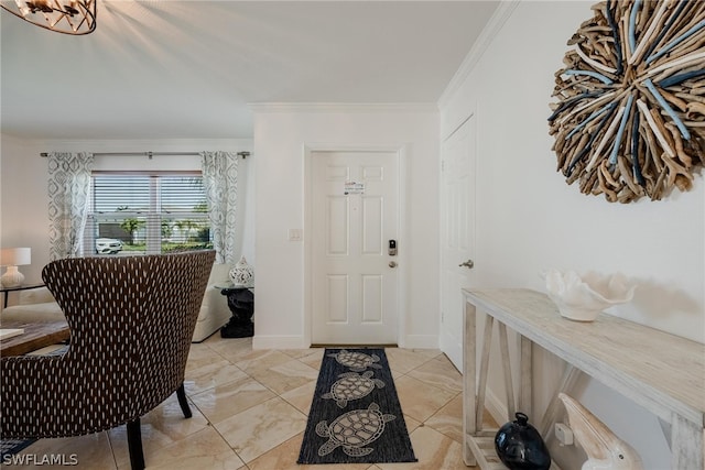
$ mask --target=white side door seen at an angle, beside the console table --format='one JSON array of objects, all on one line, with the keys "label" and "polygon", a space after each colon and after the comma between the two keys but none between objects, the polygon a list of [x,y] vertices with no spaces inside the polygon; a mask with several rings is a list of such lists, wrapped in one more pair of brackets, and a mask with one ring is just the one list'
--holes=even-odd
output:
[{"label": "white side door seen at an angle, beside the console table", "polygon": [[476,118],[465,121],[442,149],[441,350],[463,370],[460,289],[474,283]]}]

